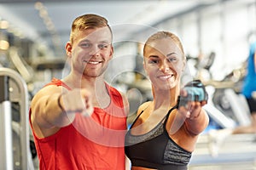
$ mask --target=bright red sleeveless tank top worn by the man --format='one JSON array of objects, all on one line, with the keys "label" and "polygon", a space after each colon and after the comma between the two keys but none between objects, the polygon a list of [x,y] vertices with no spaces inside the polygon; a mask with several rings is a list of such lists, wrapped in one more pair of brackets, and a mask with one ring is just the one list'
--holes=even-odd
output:
[{"label": "bright red sleeveless tank top worn by the man", "polygon": [[[70,90],[55,78],[49,85]],[[107,83],[106,86],[111,97],[107,108],[95,107],[90,117],[77,114],[72,124],[61,127],[57,133],[44,139],[39,139],[33,132],[40,170],[125,169],[126,116],[123,100],[115,88]]]}]

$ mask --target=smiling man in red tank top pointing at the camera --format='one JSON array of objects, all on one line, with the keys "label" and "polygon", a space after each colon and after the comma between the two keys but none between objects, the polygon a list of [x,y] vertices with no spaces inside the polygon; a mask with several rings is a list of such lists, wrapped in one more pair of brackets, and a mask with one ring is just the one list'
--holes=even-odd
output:
[{"label": "smiling man in red tank top pointing at the camera", "polygon": [[32,99],[30,122],[40,169],[125,169],[128,100],[104,81],[113,57],[108,20],[73,20],[66,45],[71,71]]}]

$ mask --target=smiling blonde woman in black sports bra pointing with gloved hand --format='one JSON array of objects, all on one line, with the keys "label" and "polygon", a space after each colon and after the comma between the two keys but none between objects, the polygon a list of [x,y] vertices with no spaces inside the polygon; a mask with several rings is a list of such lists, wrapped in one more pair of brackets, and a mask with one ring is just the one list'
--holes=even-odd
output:
[{"label": "smiling blonde woman in black sports bra pointing with gloved hand", "polygon": [[[149,37],[143,56],[154,99],[139,107],[137,118],[126,133],[125,153],[131,160],[131,169],[187,169],[198,135],[209,122],[201,108],[207,103],[207,94],[204,90],[195,95],[196,101],[183,101],[179,106],[179,96],[190,95],[187,90],[181,91],[186,59],[182,43],[171,32],[159,31]],[[201,96],[203,99],[199,99]]]}]

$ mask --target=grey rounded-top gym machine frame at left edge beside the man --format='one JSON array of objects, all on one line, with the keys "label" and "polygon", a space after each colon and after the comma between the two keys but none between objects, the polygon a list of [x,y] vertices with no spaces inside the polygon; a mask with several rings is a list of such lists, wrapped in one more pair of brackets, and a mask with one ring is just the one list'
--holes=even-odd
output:
[{"label": "grey rounded-top gym machine frame at left edge beside the man", "polygon": [[0,111],[0,169],[33,170],[26,82],[9,68],[0,68]]}]

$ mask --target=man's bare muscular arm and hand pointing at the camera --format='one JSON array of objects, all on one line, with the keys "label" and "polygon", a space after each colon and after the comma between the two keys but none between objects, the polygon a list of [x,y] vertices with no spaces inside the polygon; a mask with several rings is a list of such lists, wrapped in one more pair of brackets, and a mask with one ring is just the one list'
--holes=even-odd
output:
[{"label": "man's bare muscular arm and hand pointing at the camera", "polygon": [[90,94],[85,89],[48,86],[32,99],[32,126],[41,137],[55,133],[60,127],[73,122],[75,113],[90,115],[93,112]]}]

